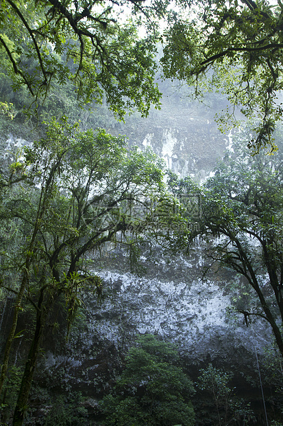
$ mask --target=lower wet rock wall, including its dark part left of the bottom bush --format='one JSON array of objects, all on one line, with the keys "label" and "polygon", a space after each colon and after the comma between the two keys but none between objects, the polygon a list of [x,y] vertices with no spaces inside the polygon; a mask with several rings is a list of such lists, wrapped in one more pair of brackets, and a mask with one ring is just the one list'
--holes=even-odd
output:
[{"label": "lower wet rock wall, including its dark part left of the bottom bush", "polygon": [[42,363],[53,377],[63,369],[69,385],[93,392],[96,383],[99,396],[123,367],[136,333],[175,342],[190,365],[215,361],[226,368],[252,368],[255,348],[260,352],[271,341],[264,322],[247,328],[241,315],[227,313],[232,306],[226,288],[234,280],[232,271],[222,276],[210,273],[201,280],[201,249],[194,258],[160,250],[147,258],[145,253],[144,276],[128,271],[127,254],[121,249],[112,251],[111,257],[94,256],[93,261],[93,273],[103,280],[104,300],[100,304],[95,295],[82,294],[82,320],[71,330],[64,351],[47,352]]}]

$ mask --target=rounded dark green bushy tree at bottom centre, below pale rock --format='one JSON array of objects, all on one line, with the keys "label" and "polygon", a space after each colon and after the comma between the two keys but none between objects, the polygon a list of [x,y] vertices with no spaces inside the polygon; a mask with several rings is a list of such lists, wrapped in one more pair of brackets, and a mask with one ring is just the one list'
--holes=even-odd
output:
[{"label": "rounded dark green bushy tree at bottom centre, below pale rock", "polygon": [[130,348],[114,394],[103,398],[106,425],[194,424],[188,397],[193,383],[177,364],[177,350],[153,335],[141,335]]}]

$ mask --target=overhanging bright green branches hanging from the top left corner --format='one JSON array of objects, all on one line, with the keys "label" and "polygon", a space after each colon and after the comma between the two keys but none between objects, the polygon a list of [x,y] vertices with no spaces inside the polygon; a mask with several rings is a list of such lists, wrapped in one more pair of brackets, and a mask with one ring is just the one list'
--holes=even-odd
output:
[{"label": "overhanging bright green branches hanging from the top left corner", "polygon": [[[134,106],[145,115],[160,99],[155,21],[165,7],[136,0],[2,1],[1,68],[12,76],[14,89],[27,87],[36,101],[53,82],[71,80],[84,103],[101,102],[106,93],[120,117]],[[143,22],[150,31],[140,38]]]}]

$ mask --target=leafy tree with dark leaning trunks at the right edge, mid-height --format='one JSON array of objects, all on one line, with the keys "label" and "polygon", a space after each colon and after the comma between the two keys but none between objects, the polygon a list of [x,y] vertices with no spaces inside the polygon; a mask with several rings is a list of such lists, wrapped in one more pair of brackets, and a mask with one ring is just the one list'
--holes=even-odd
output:
[{"label": "leafy tree with dark leaning trunks at the right edge, mid-height", "polygon": [[[249,131],[239,137],[247,142]],[[245,277],[258,303],[241,313],[247,324],[254,316],[267,320],[283,356],[282,160],[279,155],[250,157],[236,142],[234,151],[204,186],[175,177],[169,184],[188,205],[188,243],[206,238],[212,262]]]}]

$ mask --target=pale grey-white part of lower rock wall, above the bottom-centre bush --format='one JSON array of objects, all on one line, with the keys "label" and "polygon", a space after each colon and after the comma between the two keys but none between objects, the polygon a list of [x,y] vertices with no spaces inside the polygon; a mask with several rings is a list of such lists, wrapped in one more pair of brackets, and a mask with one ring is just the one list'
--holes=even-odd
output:
[{"label": "pale grey-white part of lower rock wall, above the bottom-centre bush", "polygon": [[[172,256],[160,248],[150,255],[145,251],[143,276],[128,271],[129,260],[121,249],[93,260],[93,272],[103,279],[105,299],[97,304],[83,295],[87,320],[79,341],[84,339],[84,350],[95,346],[97,336],[122,348],[134,334],[151,333],[174,341],[192,363],[209,357],[235,364],[243,361],[238,359],[240,352],[253,356],[255,347],[262,350],[270,342],[266,324],[247,328],[241,315],[229,313],[232,298],[241,298],[232,290],[238,280],[232,271],[211,271],[201,279],[207,266],[201,247],[188,257]],[[69,344],[77,346],[79,359],[84,350],[76,339],[76,334],[71,335]]]}]

